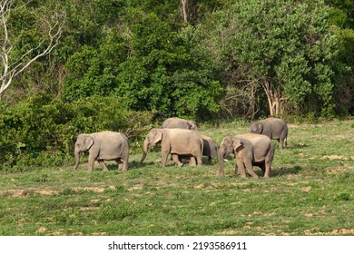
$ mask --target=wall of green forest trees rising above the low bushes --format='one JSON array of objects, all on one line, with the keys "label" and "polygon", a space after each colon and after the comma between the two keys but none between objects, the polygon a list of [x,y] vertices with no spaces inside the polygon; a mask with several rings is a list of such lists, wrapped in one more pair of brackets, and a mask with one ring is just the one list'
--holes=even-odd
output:
[{"label": "wall of green forest trees rising above the low bushes", "polygon": [[65,23],[53,52],[12,81],[8,103],[44,92],[67,103],[114,95],[127,110],[205,120],[353,113],[349,0],[15,5],[18,52],[37,47],[45,15],[65,14]]}]

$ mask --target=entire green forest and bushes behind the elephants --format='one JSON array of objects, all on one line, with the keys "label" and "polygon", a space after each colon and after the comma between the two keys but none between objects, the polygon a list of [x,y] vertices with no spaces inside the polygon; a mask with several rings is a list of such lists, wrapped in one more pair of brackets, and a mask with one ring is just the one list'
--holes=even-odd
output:
[{"label": "entire green forest and bushes behind the elephants", "polygon": [[137,151],[170,116],[218,124],[354,113],[351,0],[9,2],[3,84],[53,47],[1,90],[2,171],[71,160],[81,132],[124,132]]}]

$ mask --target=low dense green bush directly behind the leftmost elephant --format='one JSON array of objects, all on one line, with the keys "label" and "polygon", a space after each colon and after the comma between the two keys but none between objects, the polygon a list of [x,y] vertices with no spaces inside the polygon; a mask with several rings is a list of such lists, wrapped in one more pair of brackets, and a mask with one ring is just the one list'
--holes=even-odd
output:
[{"label": "low dense green bush directly behind the leftmost elephant", "polygon": [[64,103],[44,94],[18,105],[3,103],[0,110],[0,167],[19,170],[64,163],[71,158],[76,136],[82,132],[123,132],[133,151],[152,127],[153,116],[152,112],[123,109],[117,97]]}]

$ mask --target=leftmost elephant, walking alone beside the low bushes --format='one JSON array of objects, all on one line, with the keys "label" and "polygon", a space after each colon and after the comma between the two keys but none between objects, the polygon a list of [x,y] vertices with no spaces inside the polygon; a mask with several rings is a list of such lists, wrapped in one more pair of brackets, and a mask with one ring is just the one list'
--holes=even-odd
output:
[{"label": "leftmost elephant, walking alone beside the low bushes", "polygon": [[89,151],[88,171],[93,171],[94,161],[98,161],[103,171],[108,171],[104,161],[116,161],[118,168],[128,171],[129,142],[120,132],[94,132],[79,134],[75,142],[75,165],[77,170],[80,162],[80,153]]}]

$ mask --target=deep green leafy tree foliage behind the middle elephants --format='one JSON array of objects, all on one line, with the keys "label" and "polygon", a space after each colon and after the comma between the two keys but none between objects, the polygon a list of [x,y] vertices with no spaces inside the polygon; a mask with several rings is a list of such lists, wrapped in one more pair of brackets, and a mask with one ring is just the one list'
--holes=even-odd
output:
[{"label": "deep green leafy tree foliage behind the middle elephants", "polygon": [[117,87],[129,108],[193,117],[218,111],[220,83],[192,54],[189,41],[154,14],[133,20],[132,34],[133,54],[120,66]]}]

